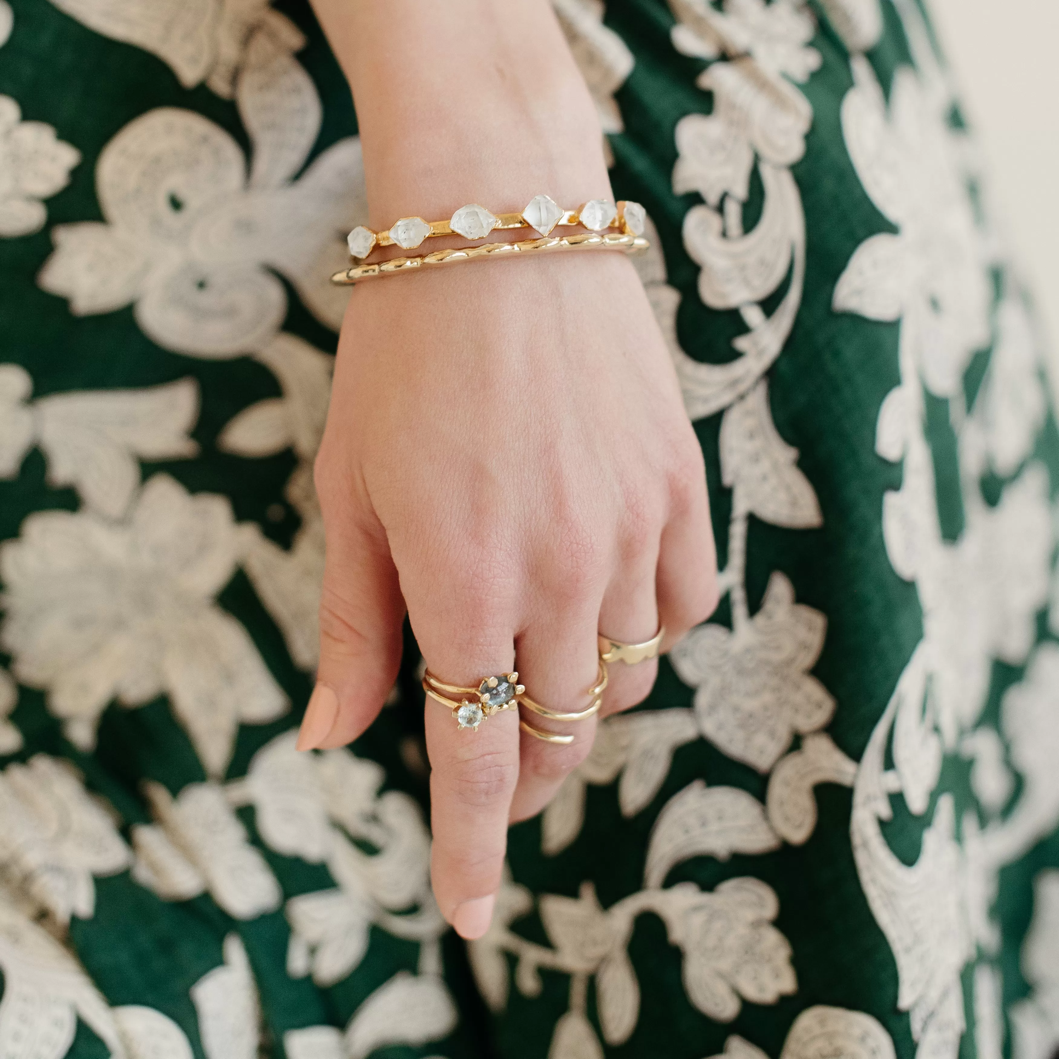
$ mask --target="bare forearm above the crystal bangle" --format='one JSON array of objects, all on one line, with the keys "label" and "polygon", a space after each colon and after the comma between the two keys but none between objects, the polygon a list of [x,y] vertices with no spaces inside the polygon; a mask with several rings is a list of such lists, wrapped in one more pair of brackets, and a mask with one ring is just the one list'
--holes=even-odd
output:
[{"label": "bare forearm above the crystal bangle", "polygon": [[610,194],[548,0],[313,0],[353,90],[372,223]]}]

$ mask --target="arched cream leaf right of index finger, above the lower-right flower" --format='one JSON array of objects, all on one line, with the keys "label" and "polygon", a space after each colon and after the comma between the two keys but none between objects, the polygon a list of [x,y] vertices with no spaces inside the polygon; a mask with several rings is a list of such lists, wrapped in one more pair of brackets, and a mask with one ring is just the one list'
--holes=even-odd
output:
[{"label": "arched cream leaf right of index finger, above the lower-right flower", "polygon": [[644,884],[661,886],[669,869],[689,857],[728,860],[732,854],[764,854],[777,848],[765,807],[735,787],[706,787],[701,779],[667,803],[647,846]]}]

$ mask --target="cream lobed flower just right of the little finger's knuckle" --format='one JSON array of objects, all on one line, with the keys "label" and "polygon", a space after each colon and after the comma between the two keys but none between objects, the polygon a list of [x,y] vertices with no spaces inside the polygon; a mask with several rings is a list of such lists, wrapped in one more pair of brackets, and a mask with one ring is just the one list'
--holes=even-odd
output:
[{"label": "cream lobed flower just right of the little finger's knuckle", "polygon": [[670,659],[681,680],[698,688],[702,734],[730,757],[768,772],[795,732],[824,728],[834,700],[809,669],[826,628],[823,614],[794,603],[791,582],[776,572],[743,630],[694,629]]}]

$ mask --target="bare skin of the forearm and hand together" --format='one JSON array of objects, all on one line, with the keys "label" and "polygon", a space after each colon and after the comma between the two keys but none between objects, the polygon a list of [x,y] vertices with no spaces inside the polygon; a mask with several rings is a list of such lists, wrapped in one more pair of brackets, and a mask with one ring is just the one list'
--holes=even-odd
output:
[{"label": "bare skin of the forearm and hand together", "polygon": [[[612,197],[546,0],[315,6],[357,100],[373,228],[466,202],[517,211],[540,192]],[[357,285],[316,480],[327,556],[303,750],[375,719],[406,608],[443,680],[518,669],[538,702],[573,712],[590,702],[597,630],[636,642],[662,623],[665,649],[716,606],[701,451],[616,253]],[[657,669],[612,666],[603,714],[642,701]],[[530,719],[575,740],[520,733],[514,711],[461,732],[427,700],[431,875],[464,937],[488,927],[508,822],[539,812],[592,746],[595,719]]]}]

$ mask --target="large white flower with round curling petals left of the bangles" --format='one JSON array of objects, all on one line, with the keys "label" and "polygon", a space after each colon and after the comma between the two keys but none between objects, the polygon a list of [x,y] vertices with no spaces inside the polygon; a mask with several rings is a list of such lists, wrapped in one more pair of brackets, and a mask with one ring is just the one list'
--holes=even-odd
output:
[{"label": "large white flower with round curling petals left of the bangles", "polygon": [[40,285],[75,313],[134,303],[152,341],[226,358],[277,334],[287,310],[277,271],[337,330],[347,292],[329,276],[346,259],[341,233],[366,210],[360,141],[340,141],[292,181],[320,127],[311,80],[297,64],[266,65],[239,80],[238,102],[254,145],[249,178],[243,149],[217,125],[148,111],[100,155],[105,222],[56,227]]}]

